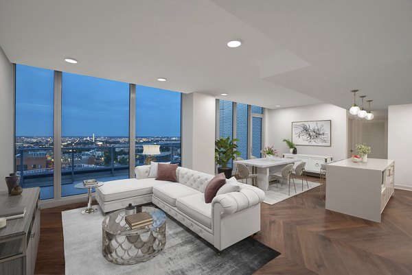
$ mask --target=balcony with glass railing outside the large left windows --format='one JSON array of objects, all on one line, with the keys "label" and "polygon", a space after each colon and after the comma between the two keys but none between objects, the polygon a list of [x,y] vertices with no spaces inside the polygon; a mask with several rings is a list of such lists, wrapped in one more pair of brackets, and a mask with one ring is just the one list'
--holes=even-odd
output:
[{"label": "balcony with glass railing outside the large left windows", "polygon": [[[181,143],[160,143],[159,162],[181,163]],[[136,166],[144,165],[143,145],[136,150]],[[128,178],[128,146],[63,147],[61,169],[62,197],[87,193],[75,189],[82,180],[95,178],[100,181]],[[21,165],[23,164],[23,165]],[[53,148],[17,149],[16,172],[21,176],[23,188],[41,187],[41,199],[54,198]]]}]

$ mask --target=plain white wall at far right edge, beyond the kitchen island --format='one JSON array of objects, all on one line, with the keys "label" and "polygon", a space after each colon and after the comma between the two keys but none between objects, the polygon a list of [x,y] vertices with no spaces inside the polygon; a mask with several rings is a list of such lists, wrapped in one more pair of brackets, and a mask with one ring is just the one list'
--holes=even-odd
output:
[{"label": "plain white wall at far right edge, beyond the kitchen island", "polygon": [[412,104],[389,106],[388,158],[395,160],[395,187],[412,190]]}]

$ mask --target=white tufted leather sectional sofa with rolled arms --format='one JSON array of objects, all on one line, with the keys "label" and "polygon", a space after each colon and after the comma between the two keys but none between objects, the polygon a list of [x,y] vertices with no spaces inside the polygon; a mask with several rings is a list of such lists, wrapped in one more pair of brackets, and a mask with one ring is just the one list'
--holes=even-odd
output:
[{"label": "white tufted leather sectional sofa with rolled arms", "polygon": [[105,182],[96,190],[102,210],[115,211],[129,203],[152,202],[197,235],[223,250],[260,230],[264,192],[248,184],[240,191],[216,195],[205,202],[205,189],[214,176],[178,167],[178,182],[148,178],[150,165],[135,168],[136,178]]}]

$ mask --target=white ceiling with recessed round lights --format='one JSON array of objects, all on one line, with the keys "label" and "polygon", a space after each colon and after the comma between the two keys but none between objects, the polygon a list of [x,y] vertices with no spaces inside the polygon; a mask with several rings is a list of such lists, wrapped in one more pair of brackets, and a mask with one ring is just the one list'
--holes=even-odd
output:
[{"label": "white ceiling with recessed round lights", "polygon": [[0,47],[10,62],[266,108],[348,108],[354,88],[374,110],[412,103],[410,0],[1,0]]}]

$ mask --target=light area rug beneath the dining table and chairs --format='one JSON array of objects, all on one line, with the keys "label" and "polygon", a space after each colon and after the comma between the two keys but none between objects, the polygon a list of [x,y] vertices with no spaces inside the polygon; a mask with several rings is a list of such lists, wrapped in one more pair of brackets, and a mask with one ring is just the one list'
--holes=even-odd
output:
[{"label": "light area rug beneath the dining table and chairs", "polygon": [[269,185],[269,190],[264,190],[265,193],[265,198],[264,198],[264,203],[265,204],[276,204],[277,202],[282,202],[282,200],[286,200],[288,198],[293,197],[294,195],[299,195],[301,193],[304,193],[310,189],[313,189],[315,187],[319,187],[318,182],[310,182],[308,181],[308,186],[306,185],[306,181],[304,180],[304,190],[302,191],[302,182],[300,179],[295,179],[295,184],[296,184],[296,193],[295,193],[295,188],[293,187],[293,182],[290,182],[290,195],[288,195],[288,184],[277,184],[272,183]]}]

